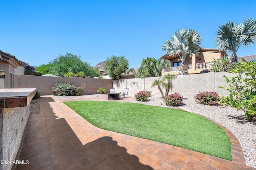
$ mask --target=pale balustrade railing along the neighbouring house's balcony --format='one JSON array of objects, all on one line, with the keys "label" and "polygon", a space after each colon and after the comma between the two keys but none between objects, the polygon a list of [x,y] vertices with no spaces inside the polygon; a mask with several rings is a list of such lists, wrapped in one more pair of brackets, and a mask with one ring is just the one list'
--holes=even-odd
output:
[{"label": "pale balustrade railing along the neighbouring house's balcony", "polygon": [[[197,63],[196,64],[196,70],[204,70],[204,69],[211,69],[212,68],[212,64],[214,62],[207,62],[207,63]],[[187,66],[187,70],[190,71],[192,70],[192,64],[188,64]],[[169,67],[166,68],[164,70],[164,72],[178,72],[179,71],[179,67],[180,66],[175,66],[175,67]]]}]

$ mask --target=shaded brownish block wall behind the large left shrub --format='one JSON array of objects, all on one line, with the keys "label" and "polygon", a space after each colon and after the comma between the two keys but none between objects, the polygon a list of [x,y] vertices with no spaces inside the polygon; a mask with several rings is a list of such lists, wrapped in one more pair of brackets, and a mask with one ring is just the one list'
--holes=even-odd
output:
[{"label": "shaded brownish block wall behind the large left shrub", "polygon": [[104,87],[107,92],[113,87],[112,79],[76,78],[76,77],[45,77],[16,75],[14,88],[37,88],[40,95],[54,95],[52,87],[61,82],[70,82],[76,86],[82,86],[86,94],[98,94],[97,90]]}]

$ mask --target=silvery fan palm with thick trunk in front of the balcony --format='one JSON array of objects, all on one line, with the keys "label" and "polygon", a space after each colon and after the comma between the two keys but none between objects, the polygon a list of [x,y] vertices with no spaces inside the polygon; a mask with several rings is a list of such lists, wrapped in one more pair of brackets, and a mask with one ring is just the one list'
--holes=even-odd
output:
[{"label": "silvery fan palm with thick trunk in front of the balcony", "polygon": [[181,65],[179,68],[179,74],[188,74],[188,70],[185,64],[187,57],[196,55],[200,48],[202,38],[200,34],[194,29],[180,29],[174,32],[170,40],[167,40],[162,46],[163,51],[167,51],[167,55],[173,57],[180,57]]}]

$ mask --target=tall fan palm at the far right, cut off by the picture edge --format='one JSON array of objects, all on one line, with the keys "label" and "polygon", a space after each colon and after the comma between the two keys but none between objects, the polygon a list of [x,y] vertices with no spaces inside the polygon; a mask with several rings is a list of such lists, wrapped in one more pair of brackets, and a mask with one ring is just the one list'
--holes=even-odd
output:
[{"label": "tall fan palm at the far right, cut off by the picture edge", "polygon": [[225,25],[220,27],[216,33],[216,46],[232,53],[230,60],[234,65],[237,63],[236,52],[239,47],[255,45],[256,39],[256,20],[247,18],[241,24],[234,21],[226,22]]}]

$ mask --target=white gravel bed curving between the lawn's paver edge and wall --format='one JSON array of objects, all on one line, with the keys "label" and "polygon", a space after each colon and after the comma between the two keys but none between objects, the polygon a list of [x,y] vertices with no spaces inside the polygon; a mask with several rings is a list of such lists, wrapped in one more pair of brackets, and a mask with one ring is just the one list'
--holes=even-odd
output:
[{"label": "white gravel bed curving between the lawn's paver edge and wall", "polygon": [[[223,108],[222,106],[206,106],[198,104],[194,100],[193,94],[181,94],[183,103],[179,107],[184,107],[190,112],[198,113],[215,120],[228,128],[238,139],[244,153],[246,165],[256,168],[256,119],[248,122],[244,116],[244,111],[236,110],[232,107]],[[146,104],[151,106],[166,106],[161,96],[150,96],[149,101],[139,102],[132,100],[132,103]],[[161,105],[162,103],[162,105]],[[177,108],[177,107],[172,107]]]}]

